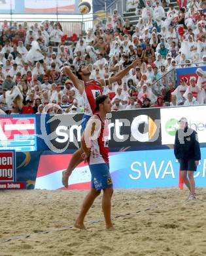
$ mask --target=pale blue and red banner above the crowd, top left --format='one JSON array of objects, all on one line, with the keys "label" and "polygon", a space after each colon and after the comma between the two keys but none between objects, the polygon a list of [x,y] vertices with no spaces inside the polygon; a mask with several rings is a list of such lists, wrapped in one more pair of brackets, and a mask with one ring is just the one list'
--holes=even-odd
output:
[{"label": "pale blue and red banner above the crowd, top left", "polygon": [[0,0],[0,13],[5,14],[80,14],[80,0]]}]

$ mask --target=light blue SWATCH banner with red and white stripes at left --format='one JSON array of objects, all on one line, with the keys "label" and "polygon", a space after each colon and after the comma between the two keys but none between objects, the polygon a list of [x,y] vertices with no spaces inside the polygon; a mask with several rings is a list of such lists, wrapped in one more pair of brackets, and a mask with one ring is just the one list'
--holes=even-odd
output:
[{"label": "light blue SWATCH banner with red and white stripes at left", "polygon": [[[61,173],[67,168],[71,154],[41,156],[35,188],[62,189]],[[205,186],[206,148],[195,173],[196,186]],[[109,156],[114,188],[157,188],[178,186],[179,163],[173,150],[116,152]],[[90,169],[83,162],[69,177],[68,189],[89,189]],[[65,188],[63,188],[65,189]]]}]

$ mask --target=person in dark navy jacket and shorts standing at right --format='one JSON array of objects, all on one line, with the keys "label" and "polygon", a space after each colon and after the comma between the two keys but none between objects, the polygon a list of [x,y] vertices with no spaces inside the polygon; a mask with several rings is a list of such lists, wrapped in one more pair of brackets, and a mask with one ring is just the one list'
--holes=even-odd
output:
[{"label": "person in dark navy jacket and shorts standing at right", "polygon": [[175,134],[174,154],[180,163],[180,175],[188,187],[188,200],[196,199],[194,172],[201,160],[197,132],[188,127],[185,117],[179,120],[180,129]]}]

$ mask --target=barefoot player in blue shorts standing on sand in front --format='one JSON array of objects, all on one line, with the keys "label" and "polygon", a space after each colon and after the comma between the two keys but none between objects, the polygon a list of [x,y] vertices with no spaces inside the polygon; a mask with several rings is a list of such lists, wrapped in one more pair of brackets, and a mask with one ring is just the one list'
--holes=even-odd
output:
[{"label": "barefoot player in blue shorts standing on sand in front", "polygon": [[82,158],[88,161],[92,175],[91,190],[84,198],[75,226],[85,229],[84,217],[103,190],[102,209],[107,230],[113,230],[111,221],[112,179],[109,173],[109,129],[106,114],[111,112],[111,100],[106,95],[95,99],[97,111],[86,125],[81,138]]}]

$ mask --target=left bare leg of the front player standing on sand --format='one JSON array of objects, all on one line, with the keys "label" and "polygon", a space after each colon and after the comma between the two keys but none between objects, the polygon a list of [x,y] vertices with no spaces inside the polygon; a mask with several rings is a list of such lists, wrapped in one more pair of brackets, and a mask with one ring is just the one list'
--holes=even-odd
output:
[{"label": "left bare leg of the front player standing on sand", "polygon": [[95,188],[91,188],[90,192],[87,194],[86,198],[84,198],[84,202],[82,204],[82,208],[80,210],[80,213],[78,215],[77,221],[75,222],[75,227],[80,229],[86,229],[84,226],[84,218],[86,216],[86,213],[92,206],[92,203],[94,203],[95,198],[99,196],[101,193],[101,190],[95,190]]}]

